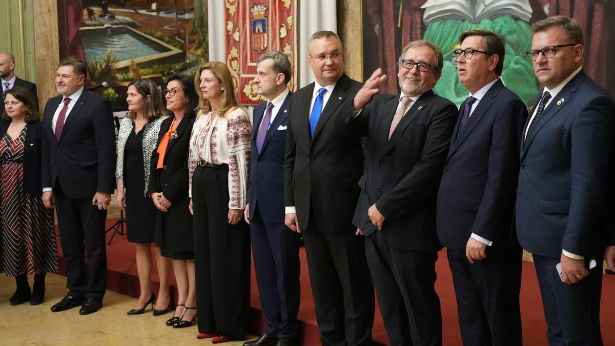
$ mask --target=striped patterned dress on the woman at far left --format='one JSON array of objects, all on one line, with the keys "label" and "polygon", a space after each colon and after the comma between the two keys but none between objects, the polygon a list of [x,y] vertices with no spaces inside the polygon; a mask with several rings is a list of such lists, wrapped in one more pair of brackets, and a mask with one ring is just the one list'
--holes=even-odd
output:
[{"label": "striped patterned dress on the woman at far left", "polygon": [[0,138],[0,272],[8,276],[58,271],[54,212],[42,204],[42,191],[23,190],[23,143]]}]

